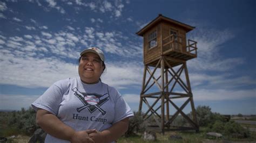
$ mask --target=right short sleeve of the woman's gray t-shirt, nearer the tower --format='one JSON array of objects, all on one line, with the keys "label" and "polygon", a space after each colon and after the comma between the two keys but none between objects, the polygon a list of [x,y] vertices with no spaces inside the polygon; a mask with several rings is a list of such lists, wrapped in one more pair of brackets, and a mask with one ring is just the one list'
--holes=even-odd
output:
[{"label": "right short sleeve of the woman's gray t-shirt, nearer the tower", "polygon": [[124,101],[124,98],[120,95],[120,93],[116,91],[116,101],[114,104],[114,120],[113,120],[113,124],[117,123],[118,121],[127,118],[127,117],[132,117],[133,112],[130,108],[130,106]]}]

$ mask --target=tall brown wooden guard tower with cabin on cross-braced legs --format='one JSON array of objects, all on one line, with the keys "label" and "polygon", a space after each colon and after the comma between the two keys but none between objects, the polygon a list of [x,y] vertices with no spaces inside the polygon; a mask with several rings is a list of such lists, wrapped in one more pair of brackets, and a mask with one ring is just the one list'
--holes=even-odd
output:
[{"label": "tall brown wooden guard tower with cabin on cross-braced legs", "polygon": [[[159,15],[136,33],[144,41],[144,75],[139,111],[145,106],[144,120],[153,115],[156,125],[152,126],[163,134],[168,129],[199,130],[186,66],[187,60],[197,58],[197,42],[188,40],[186,44],[186,33],[194,28]],[[177,86],[178,91],[174,91]],[[155,89],[151,90],[153,87]],[[181,106],[174,103],[177,98],[182,98]],[[188,103],[191,105],[192,117],[183,112]],[[170,115],[170,111],[173,115]],[[173,126],[173,121],[179,115],[188,125]]]}]

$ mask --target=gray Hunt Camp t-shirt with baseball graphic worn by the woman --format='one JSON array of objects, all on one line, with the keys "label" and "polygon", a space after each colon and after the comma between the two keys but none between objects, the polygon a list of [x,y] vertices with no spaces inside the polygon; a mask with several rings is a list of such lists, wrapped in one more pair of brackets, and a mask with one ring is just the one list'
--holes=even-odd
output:
[{"label": "gray Hunt Camp t-shirt with baseball graphic worn by the woman", "polygon": [[[47,110],[75,131],[103,131],[118,121],[133,116],[120,93],[98,82],[85,84],[79,77],[58,81],[32,103],[32,108]],[[47,135],[45,142],[68,142]]]}]

